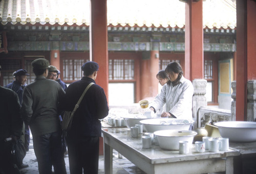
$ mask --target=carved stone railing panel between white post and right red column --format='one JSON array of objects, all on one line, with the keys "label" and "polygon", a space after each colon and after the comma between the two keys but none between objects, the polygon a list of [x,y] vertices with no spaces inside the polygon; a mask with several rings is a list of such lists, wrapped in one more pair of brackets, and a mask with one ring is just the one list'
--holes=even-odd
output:
[{"label": "carved stone railing panel between white post and right red column", "polygon": [[220,121],[235,121],[236,117],[231,116],[230,110],[223,110],[213,107],[200,107],[198,110],[197,127],[204,127],[205,124],[214,124]]}]

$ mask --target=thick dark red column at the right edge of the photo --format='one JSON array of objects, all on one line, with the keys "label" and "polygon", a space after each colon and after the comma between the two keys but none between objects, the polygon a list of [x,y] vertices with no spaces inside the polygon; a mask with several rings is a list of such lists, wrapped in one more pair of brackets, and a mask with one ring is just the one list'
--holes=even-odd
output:
[{"label": "thick dark red column at the right edge of the photo", "polygon": [[247,119],[247,81],[256,79],[256,3],[237,0],[236,120]]}]

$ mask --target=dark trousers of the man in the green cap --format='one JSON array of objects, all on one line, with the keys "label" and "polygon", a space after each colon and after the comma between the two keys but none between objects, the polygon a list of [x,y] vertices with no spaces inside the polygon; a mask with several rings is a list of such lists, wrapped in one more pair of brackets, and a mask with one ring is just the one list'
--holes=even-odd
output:
[{"label": "dark trousers of the man in the green cap", "polygon": [[40,174],[66,174],[65,160],[62,153],[61,132],[33,136],[33,145]]}]

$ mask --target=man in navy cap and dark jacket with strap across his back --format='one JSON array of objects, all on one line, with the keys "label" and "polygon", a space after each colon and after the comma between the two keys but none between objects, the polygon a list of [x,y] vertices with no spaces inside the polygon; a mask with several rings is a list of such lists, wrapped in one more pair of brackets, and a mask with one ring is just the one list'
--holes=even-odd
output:
[{"label": "man in navy cap and dark jacket with strap across his back", "polygon": [[[89,61],[83,64],[81,80],[69,85],[65,99],[61,104],[66,111],[72,111],[84,89],[93,82],[98,73],[98,63]],[[84,95],[75,112],[72,127],[67,134],[70,173],[98,173],[99,137],[101,123],[99,119],[109,114],[108,102],[104,90],[93,84]]]}]

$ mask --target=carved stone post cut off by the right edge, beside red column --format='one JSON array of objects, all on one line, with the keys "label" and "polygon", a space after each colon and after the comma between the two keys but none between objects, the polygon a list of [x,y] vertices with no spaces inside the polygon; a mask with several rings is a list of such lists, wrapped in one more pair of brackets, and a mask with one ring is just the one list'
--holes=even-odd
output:
[{"label": "carved stone post cut off by the right edge, beside red column", "polygon": [[256,121],[256,80],[247,82],[247,121]]}]

